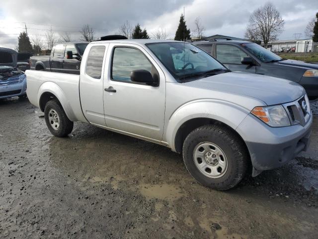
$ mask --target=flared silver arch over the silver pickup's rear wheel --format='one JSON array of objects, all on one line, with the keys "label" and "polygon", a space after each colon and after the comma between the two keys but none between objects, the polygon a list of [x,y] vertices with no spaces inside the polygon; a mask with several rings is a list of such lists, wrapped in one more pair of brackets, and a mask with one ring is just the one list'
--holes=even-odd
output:
[{"label": "flared silver arch over the silver pickup's rear wheel", "polygon": [[48,81],[48,82],[44,82],[38,91],[38,98],[39,102],[38,105],[40,106],[40,102],[41,102],[41,98],[43,96],[44,93],[49,92],[51,94],[53,94],[61,103],[67,117],[71,120],[71,121],[78,121],[78,119],[76,118],[71,105],[68,102],[68,99],[65,95],[65,93],[63,92],[63,90],[54,82]]}]

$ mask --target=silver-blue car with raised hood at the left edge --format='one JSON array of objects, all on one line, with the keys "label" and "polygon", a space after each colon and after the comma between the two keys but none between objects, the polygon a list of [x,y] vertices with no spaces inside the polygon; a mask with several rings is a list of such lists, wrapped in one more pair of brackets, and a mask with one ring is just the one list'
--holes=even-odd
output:
[{"label": "silver-blue car with raised hood at the left edge", "polygon": [[0,99],[26,96],[26,75],[16,68],[18,53],[0,48]]}]

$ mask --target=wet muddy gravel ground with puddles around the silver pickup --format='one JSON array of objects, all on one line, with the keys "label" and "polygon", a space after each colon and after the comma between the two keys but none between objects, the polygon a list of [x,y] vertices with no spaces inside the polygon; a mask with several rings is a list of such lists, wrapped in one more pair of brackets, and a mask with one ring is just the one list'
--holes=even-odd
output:
[{"label": "wet muddy gravel ground with puddles around the silver pickup", "polygon": [[27,100],[0,101],[0,238],[317,239],[317,228],[318,161],[306,155],[218,192],[164,146],[86,123],[57,138]]}]

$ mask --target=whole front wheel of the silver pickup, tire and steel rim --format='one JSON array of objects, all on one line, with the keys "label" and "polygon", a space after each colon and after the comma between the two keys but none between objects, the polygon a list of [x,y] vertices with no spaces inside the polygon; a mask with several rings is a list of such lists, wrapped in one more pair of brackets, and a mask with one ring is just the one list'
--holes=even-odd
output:
[{"label": "whole front wheel of the silver pickup, tire and steel rim", "polygon": [[222,125],[194,129],[183,144],[183,161],[202,185],[216,190],[234,188],[247,168],[248,154],[238,135]]}]

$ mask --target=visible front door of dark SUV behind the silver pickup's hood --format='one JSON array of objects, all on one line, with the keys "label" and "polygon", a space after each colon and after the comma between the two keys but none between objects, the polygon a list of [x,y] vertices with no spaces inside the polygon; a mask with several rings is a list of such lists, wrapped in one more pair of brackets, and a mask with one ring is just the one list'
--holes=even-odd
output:
[{"label": "visible front door of dark SUV behind the silver pickup's hood", "polygon": [[241,63],[243,57],[250,56],[235,45],[216,44],[215,57],[231,71],[244,71],[250,73],[256,72],[255,66],[243,65]]}]

